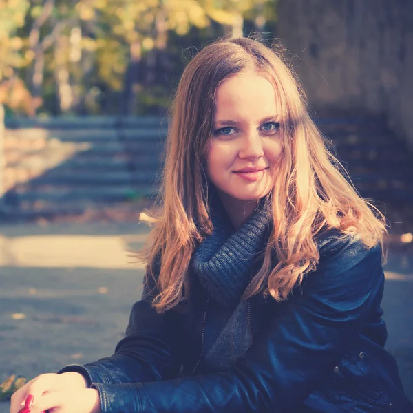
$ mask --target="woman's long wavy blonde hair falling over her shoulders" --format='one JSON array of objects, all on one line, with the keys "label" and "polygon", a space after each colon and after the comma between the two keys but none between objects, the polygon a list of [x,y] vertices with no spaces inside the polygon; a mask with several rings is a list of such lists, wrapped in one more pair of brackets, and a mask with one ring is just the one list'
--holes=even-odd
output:
[{"label": "woman's long wavy blonde hair falling over her shoulders", "polygon": [[243,298],[264,292],[277,301],[286,299],[316,268],[315,238],[328,229],[357,235],[367,248],[377,243],[383,247],[385,218],[343,176],[346,172],[329,150],[330,143],[310,118],[304,92],[281,47],[251,38],[222,38],[198,52],[180,78],[171,106],[158,213],[141,215],[154,226],[138,257],[147,262],[147,277],[156,279],[153,306],[158,312],[189,297],[191,256],[213,229],[202,165],[213,133],[215,91],[230,76],[251,68],[273,84],[282,158],[271,191],[273,229],[262,268]]}]

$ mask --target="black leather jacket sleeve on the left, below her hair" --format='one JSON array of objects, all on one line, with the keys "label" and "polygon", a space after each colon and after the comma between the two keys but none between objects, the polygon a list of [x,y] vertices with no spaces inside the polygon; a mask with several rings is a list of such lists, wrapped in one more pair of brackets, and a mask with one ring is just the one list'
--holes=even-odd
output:
[{"label": "black leather jacket sleeve on the left, below her hair", "polygon": [[180,367],[173,342],[176,315],[173,311],[158,314],[151,306],[155,284],[145,282],[142,299],[132,306],[126,337],[119,341],[111,357],[83,366],[72,364],[58,373],[81,373],[89,387],[92,383],[137,383],[176,377]]}]

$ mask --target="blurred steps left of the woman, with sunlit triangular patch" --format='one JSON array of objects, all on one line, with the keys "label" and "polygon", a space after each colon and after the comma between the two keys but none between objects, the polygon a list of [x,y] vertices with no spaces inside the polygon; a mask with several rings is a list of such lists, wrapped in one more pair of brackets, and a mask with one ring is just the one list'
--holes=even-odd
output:
[{"label": "blurred steps left of the woman, with sunlit triangular patch", "polygon": [[85,118],[6,127],[3,217],[76,215],[155,194],[166,118]]}]

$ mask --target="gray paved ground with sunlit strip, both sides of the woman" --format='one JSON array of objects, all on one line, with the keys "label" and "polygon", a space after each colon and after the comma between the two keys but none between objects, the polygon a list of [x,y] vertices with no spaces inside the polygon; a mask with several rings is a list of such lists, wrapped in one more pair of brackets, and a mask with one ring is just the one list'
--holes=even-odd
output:
[{"label": "gray paved ground with sunlit strip, both sides of the woman", "polygon": [[[0,381],[112,354],[141,295],[143,268],[128,251],[146,233],[136,224],[0,227]],[[387,349],[413,399],[413,254],[391,253],[385,270]]]}]

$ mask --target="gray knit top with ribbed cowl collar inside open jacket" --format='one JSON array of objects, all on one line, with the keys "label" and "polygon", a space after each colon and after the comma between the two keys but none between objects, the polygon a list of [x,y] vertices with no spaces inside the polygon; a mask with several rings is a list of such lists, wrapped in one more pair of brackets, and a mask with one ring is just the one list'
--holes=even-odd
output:
[{"label": "gray knit top with ribbed cowl collar inside open jacket", "polygon": [[213,299],[204,334],[204,372],[224,371],[253,343],[253,319],[244,290],[262,264],[271,229],[271,213],[260,202],[240,229],[233,232],[217,195],[210,202],[213,233],[193,255],[193,271]]}]

